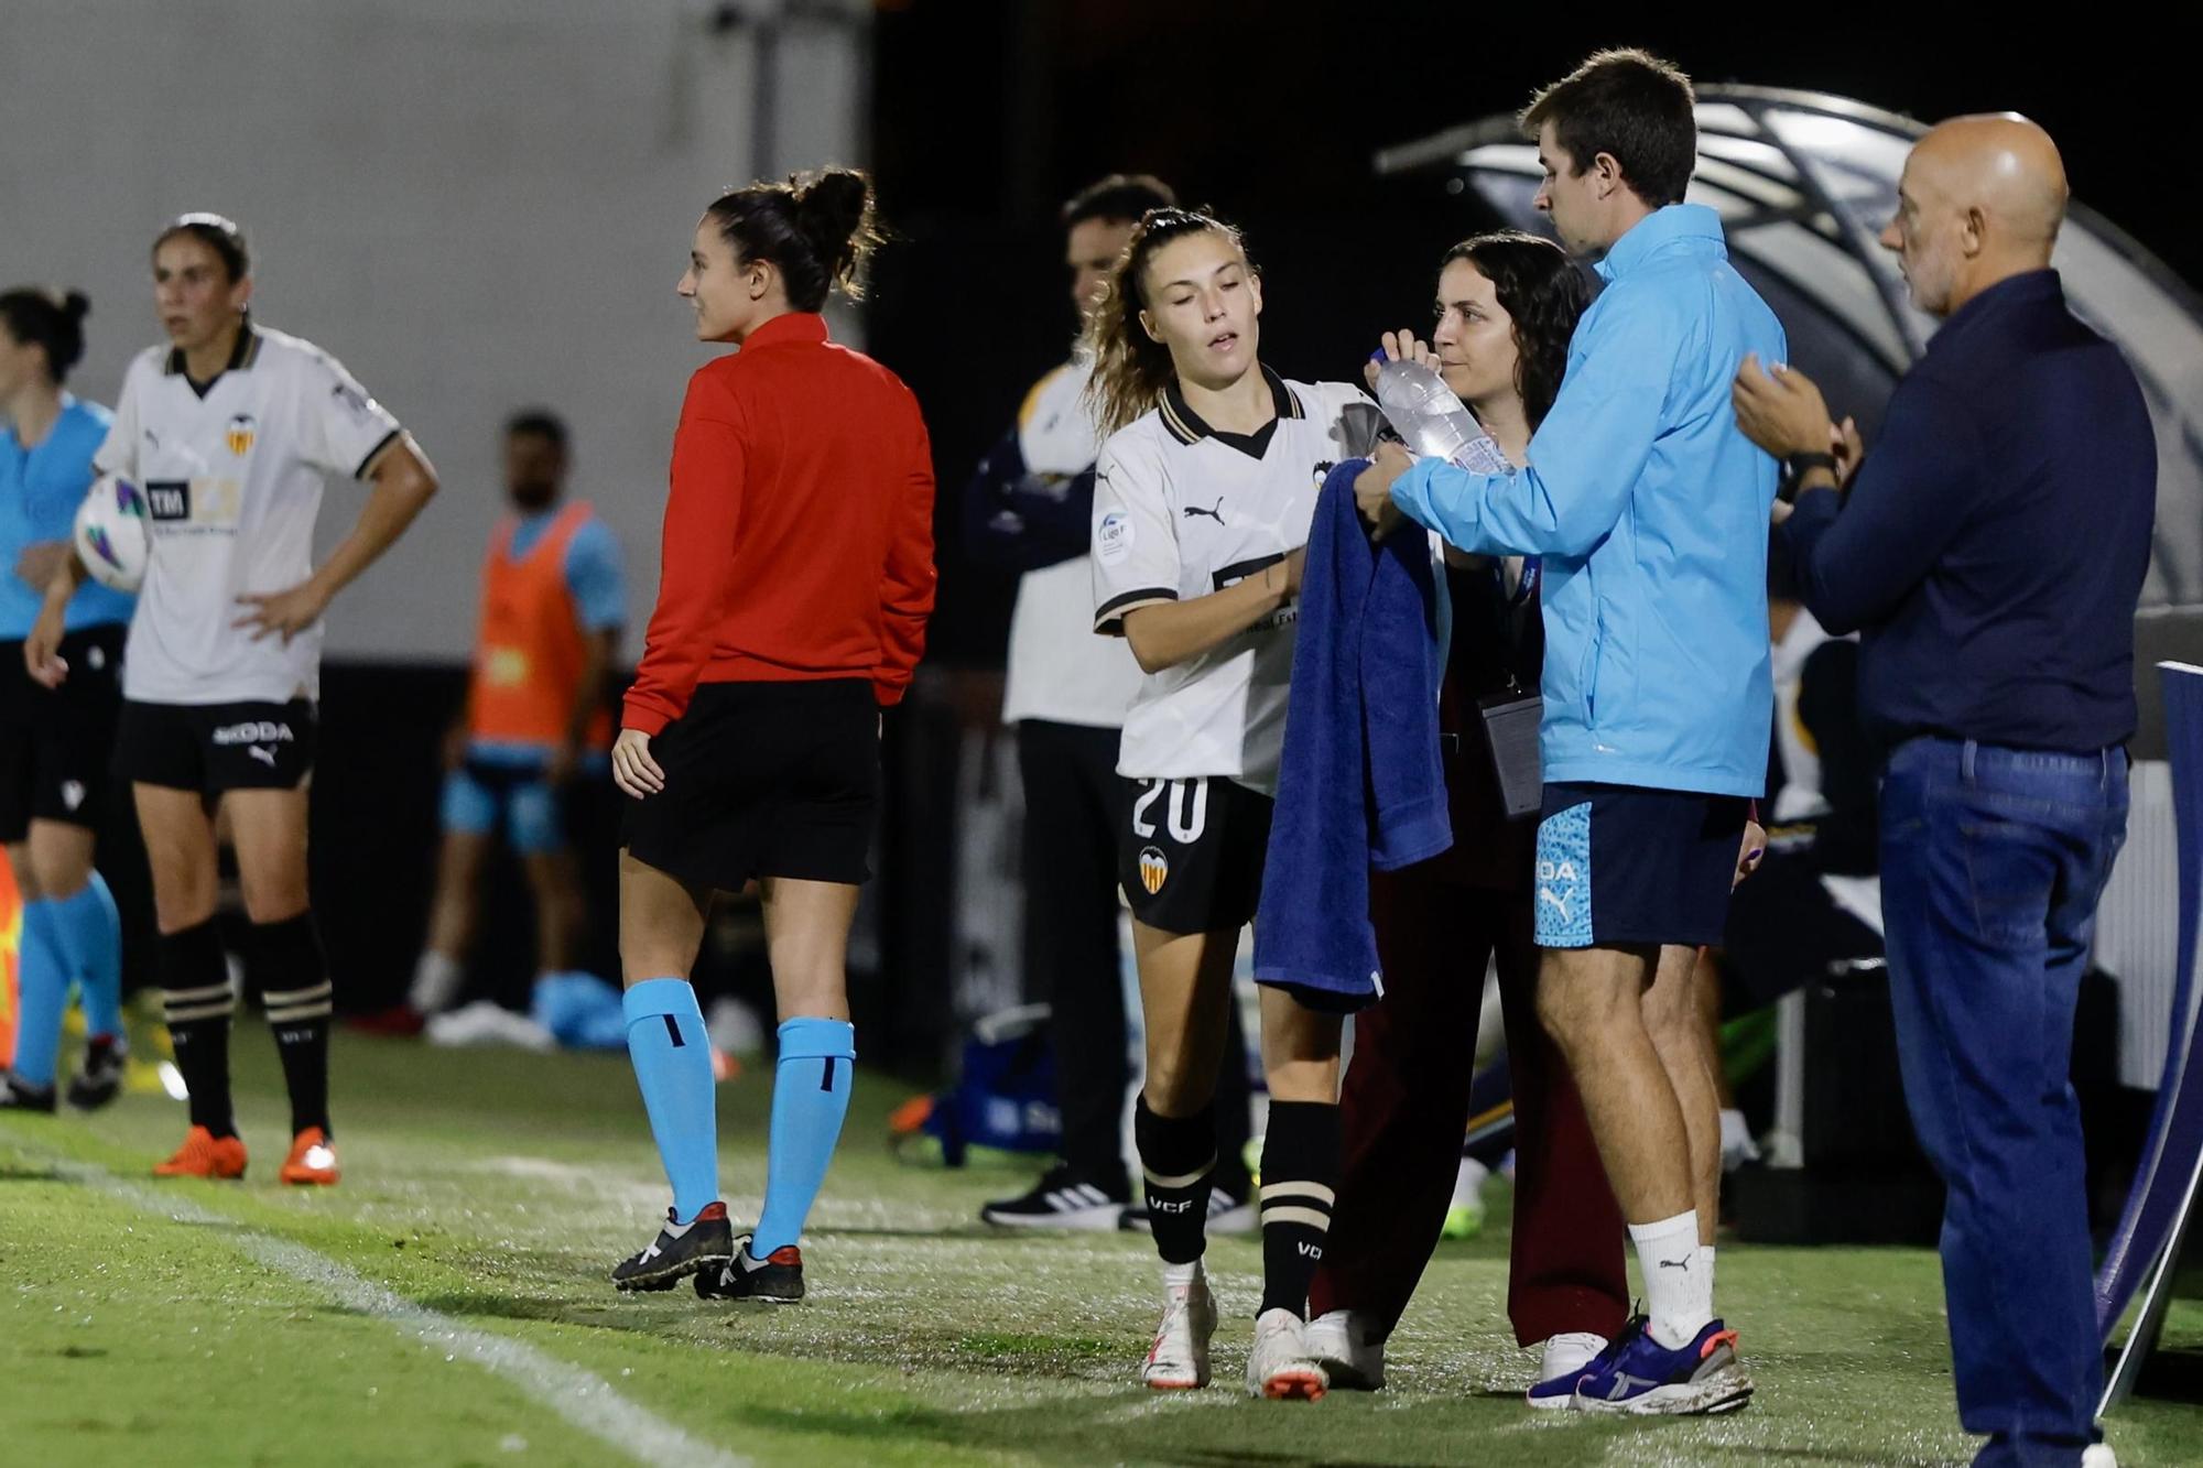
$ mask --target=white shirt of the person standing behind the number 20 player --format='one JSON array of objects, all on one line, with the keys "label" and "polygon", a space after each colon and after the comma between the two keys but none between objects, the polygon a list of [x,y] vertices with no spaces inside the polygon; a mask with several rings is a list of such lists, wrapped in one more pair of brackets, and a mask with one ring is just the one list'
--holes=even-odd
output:
[{"label": "white shirt of the person standing behind the number 20 player", "polygon": [[[1102,450],[1082,401],[1093,364],[1073,357],[1042,377],[1018,412],[1018,452],[1031,474],[1071,478]],[[1002,723],[1044,719],[1117,727],[1139,690],[1139,663],[1117,637],[1093,635],[1093,573],[1084,555],[1018,578],[1009,615]]]}]

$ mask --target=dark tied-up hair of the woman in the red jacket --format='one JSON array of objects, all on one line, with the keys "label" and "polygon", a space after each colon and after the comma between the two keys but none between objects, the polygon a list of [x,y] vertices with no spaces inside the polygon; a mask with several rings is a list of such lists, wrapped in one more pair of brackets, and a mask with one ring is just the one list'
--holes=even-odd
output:
[{"label": "dark tied-up hair of the woman in the red jacket", "polygon": [[864,300],[864,262],[886,240],[872,209],[872,181],[855,168],[751,183],[720,194],[705,214],[738,262],[773,262],[797,311],[822,309],[833,287]]}]

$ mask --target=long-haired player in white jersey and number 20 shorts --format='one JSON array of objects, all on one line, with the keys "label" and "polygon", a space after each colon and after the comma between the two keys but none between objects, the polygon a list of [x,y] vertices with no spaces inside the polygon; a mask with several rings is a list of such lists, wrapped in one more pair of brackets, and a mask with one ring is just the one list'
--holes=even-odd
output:
[{"label": "long-haired player in white jersey and number 20 shorts", "polygon": [[[1260,313],[1236,229],[1150,209],[1088,320],[1090,401],[1110,434],[1095,469],[1095,630],[1121,633],[1146,672],[1117,774],[1148,1025],[1135,1140],[1163,1259],[1163,1323],[1141,1371],[1154,1389],[1209,1380],[1209,1109],[1231,961],[1262,890],[1293,602],[1315,494],[1377,423],[1359,388],[1267,370]],[[1247,1391],[1315,1400],[1326,1380],[1302,1334],[1339,1170],[1337,1014],[1265,990],[1262,1069],[1262,1305]]]}]

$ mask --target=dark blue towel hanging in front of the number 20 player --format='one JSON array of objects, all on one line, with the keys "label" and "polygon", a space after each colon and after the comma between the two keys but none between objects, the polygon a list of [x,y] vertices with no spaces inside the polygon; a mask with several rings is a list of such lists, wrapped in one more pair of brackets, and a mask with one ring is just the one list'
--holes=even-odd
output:
[{"label": "dark blue towel hanging in front of the number 20 player", "polygon": [[1383,992],[1370,866],[1454,844],[1439,763],[1439,586],[1430,542],[1403,525],[1370,544],[1348,458],[1324,478],[1293,637],[1293,692],[1269,827],[1254,976],[1317,1010]]}]

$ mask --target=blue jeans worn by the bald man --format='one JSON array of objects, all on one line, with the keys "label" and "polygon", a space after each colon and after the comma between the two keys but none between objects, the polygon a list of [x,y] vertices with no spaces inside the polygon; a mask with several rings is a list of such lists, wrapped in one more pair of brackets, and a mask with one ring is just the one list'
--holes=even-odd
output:
[{"label": "blue jeans worn by the bald man", "polygon": [[1947,1186],[1943,1292],[1976,1464],[2071,1468],[2104,1386],[2073,1007],[2126,840],[2126,752],[1914,738],[1881,787],[1906,1104]]}]

